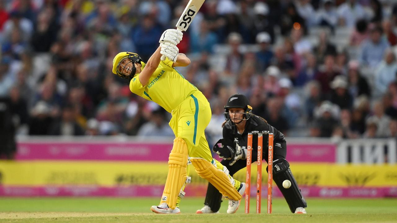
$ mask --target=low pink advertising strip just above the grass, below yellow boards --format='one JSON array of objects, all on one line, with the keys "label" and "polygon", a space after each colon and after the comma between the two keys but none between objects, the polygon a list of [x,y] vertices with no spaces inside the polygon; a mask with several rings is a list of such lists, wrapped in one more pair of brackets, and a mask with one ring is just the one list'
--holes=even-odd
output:
[{"label": "low pink advertising strip just above the grass, below yellow boards", "polygon": [[[164,186],[2,186],[0,196],[113,196],[113,197],[160,197]],[[207,186],[187,186],[187,196],[205,196]],[[266,188],[262,189],[262,196],[267,194]],[[382,198],[397,197],[397,187],[316,187],[301,186],[304,197],[319,198]],[[255,196],[256,190],[252,188],[251,195]],[[280,190],[274,187],[274,197],[282,197]]]}]

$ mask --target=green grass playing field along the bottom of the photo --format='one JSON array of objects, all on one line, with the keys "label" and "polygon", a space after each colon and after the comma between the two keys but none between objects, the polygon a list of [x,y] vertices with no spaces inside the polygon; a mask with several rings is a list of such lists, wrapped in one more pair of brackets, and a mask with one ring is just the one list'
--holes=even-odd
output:
[{"label": "green grass playing field along the bottom of the photo", "polygon": [[[397,199],[308,199],[308,214],[293,215],[282,198],[273,200],[273,213],[244,213],[243,204],[237,213],[227,215],[227,202],[221,214],[198,215],[204,198],[184,198],[182,214],[159,215],[149,208],[158,198],[0,198],[0,222],[70,222],[70,223],[356,223],[397,222]],[[251,212],[256,201],[251,200]]]}]

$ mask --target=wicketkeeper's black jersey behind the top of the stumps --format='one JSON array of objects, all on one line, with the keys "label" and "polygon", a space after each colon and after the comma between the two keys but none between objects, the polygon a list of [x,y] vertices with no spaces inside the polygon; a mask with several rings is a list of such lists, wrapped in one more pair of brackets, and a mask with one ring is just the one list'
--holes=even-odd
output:
[{"label": "wicketkeeper's black jersey behind the top of the stumps", "polygon": [[[223,137],[230,138],[234,140],[235,138],[239,139],[239,146],[247,146],[247,138],[248,133],[252,131],[270,131],[274,134],[274,144],[276,143],[285,143],[285,136],[283,133],[278,131],[273,126],[266,123],[262,118],[251,115],[251,117],[245,123],[245,129],[243,134],[238,133],[237,127],[231,125],[231,121],[227,121],[223,127]],[[263,146],[265,147],[265,143],[267,144],[268,139],[263,140]],[[252,150],[256,151],[258,147],[258,137],[252,138]],[[266,151],[267,153],[267,151]]]}]

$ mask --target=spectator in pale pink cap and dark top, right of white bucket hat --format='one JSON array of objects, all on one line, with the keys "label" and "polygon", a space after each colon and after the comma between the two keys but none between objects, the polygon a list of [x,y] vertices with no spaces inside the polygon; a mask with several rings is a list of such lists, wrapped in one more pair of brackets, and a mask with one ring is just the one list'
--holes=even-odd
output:
[{"label": "spectator in pale pink cap and dark top, right of white bucket hat", "polygon": [[351,60],[349,62],[349,71],[347,73],[349,81],[349,93],[353,98],[357,98],[360,95],[371,96],[371,89],[368,81],[361,76],[360,63],[357,60]]}]

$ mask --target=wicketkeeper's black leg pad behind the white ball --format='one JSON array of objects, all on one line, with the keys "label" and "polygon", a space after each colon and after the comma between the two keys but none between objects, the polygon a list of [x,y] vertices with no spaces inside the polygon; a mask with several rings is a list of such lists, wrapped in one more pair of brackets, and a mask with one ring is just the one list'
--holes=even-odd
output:
[{"label": "wicketkeeper's black leg pad behind the white ball", "polygon": [[[297,181],[292,175],[291,169],[289,169],[287,160],[278,159],[273,161],[273,180],[283,194],[292,213],[298,207],[307,207],[306,200],[304,200]],[[291,186],[287,189],[283,187],[283,181],[285,180],[291,181]]]}]

